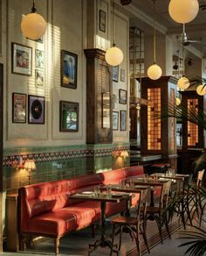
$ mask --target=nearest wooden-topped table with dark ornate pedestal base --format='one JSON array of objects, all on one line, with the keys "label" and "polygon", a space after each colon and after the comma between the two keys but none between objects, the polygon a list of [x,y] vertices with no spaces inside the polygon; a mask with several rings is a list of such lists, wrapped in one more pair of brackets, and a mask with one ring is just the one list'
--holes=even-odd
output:
[{"label": "nearest wooden-topped table with dark ornate pedestal base", "polygon": [[[97,250],[97,248],[100,247],[109,247],[112,249],[112,241],[108,238],[106,238],[105,234],[105,223],[106,223],[106,203],[120,203],[122,200],[129,201],[131,195],[128,193],[122,194],[121,196],[115,196],[113,194],[106,194],[106,193],[100,193],[100,196],[96,196],[94,193],[91,196],[84,195],[84,194],[75,194],[73,196],[70,196],[70,198],[73,199],[84,199],[86,201],[99,201],[100,202],[100,209],[101,209],[101,220],[100,220],[100,239],[97,239],[93,245],[89,245],[89,252],[88,255],[90,255],[91,252],[94,252]],[[128,203],[127,203],[128,204]],[[116,252],[115,250],[113,250]]]}]

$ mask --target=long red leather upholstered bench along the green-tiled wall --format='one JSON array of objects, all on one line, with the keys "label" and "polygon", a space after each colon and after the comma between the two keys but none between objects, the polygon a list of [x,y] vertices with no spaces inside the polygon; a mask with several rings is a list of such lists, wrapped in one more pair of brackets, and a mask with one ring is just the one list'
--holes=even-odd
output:
[{"label": "long red leather upholstered bench along the green-tiled wall", "polygon": [[[139,174],[143,174],[143,167],[127,167],[20,188],[20,223],[18,225],[20,240],[24,241],[23,238],[27,235],[55,238],[56,254],[58,254],[59,238],[100,221],[99,202],[74,200],[70,198],[71,195],[93,190],[100,184],[119,183],[129,176]],[[136,200],[133,203],[136,203]],[[126,210],[124,201],[106,203],[106,217],[124,210]]]}]

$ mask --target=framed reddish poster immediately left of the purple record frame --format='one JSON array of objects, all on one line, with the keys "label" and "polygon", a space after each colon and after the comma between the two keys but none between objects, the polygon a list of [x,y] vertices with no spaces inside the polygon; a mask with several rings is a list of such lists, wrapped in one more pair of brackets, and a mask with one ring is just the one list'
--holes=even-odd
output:
[{"label": "framed reddish poster immediately left of the purple record frame", "polygon": [[26,95],[12,94],[12,123],[26,123]]}]

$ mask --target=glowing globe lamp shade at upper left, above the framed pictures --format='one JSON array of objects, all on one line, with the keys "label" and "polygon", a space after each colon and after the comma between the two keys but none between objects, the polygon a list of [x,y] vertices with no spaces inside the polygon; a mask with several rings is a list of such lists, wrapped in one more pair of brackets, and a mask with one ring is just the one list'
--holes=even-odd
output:
[{"label": "glowing globe lamp shade at upper left, above the framed pictures", "polygon": [[26,38],[40,39],[46,30],[45,18],[38,13],[29,13],[22,19],[21,30]]}]

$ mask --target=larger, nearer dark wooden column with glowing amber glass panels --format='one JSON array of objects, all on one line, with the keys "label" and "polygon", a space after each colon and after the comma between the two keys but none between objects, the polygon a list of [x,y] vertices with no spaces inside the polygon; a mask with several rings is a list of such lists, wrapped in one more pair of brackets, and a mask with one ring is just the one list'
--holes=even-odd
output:
[{"label": "larger, nearer dark wooden column with glowing amber glass panels", "polygon": [[175,92],[175,77],[141,79],[141,97],[148,99],[148,106],[141,106],[141,154],[161,154],[172,167],[176,167],[177,157],[175,118],[158,118],[158,115],[168,113],[168,104],[175,103]]}]

